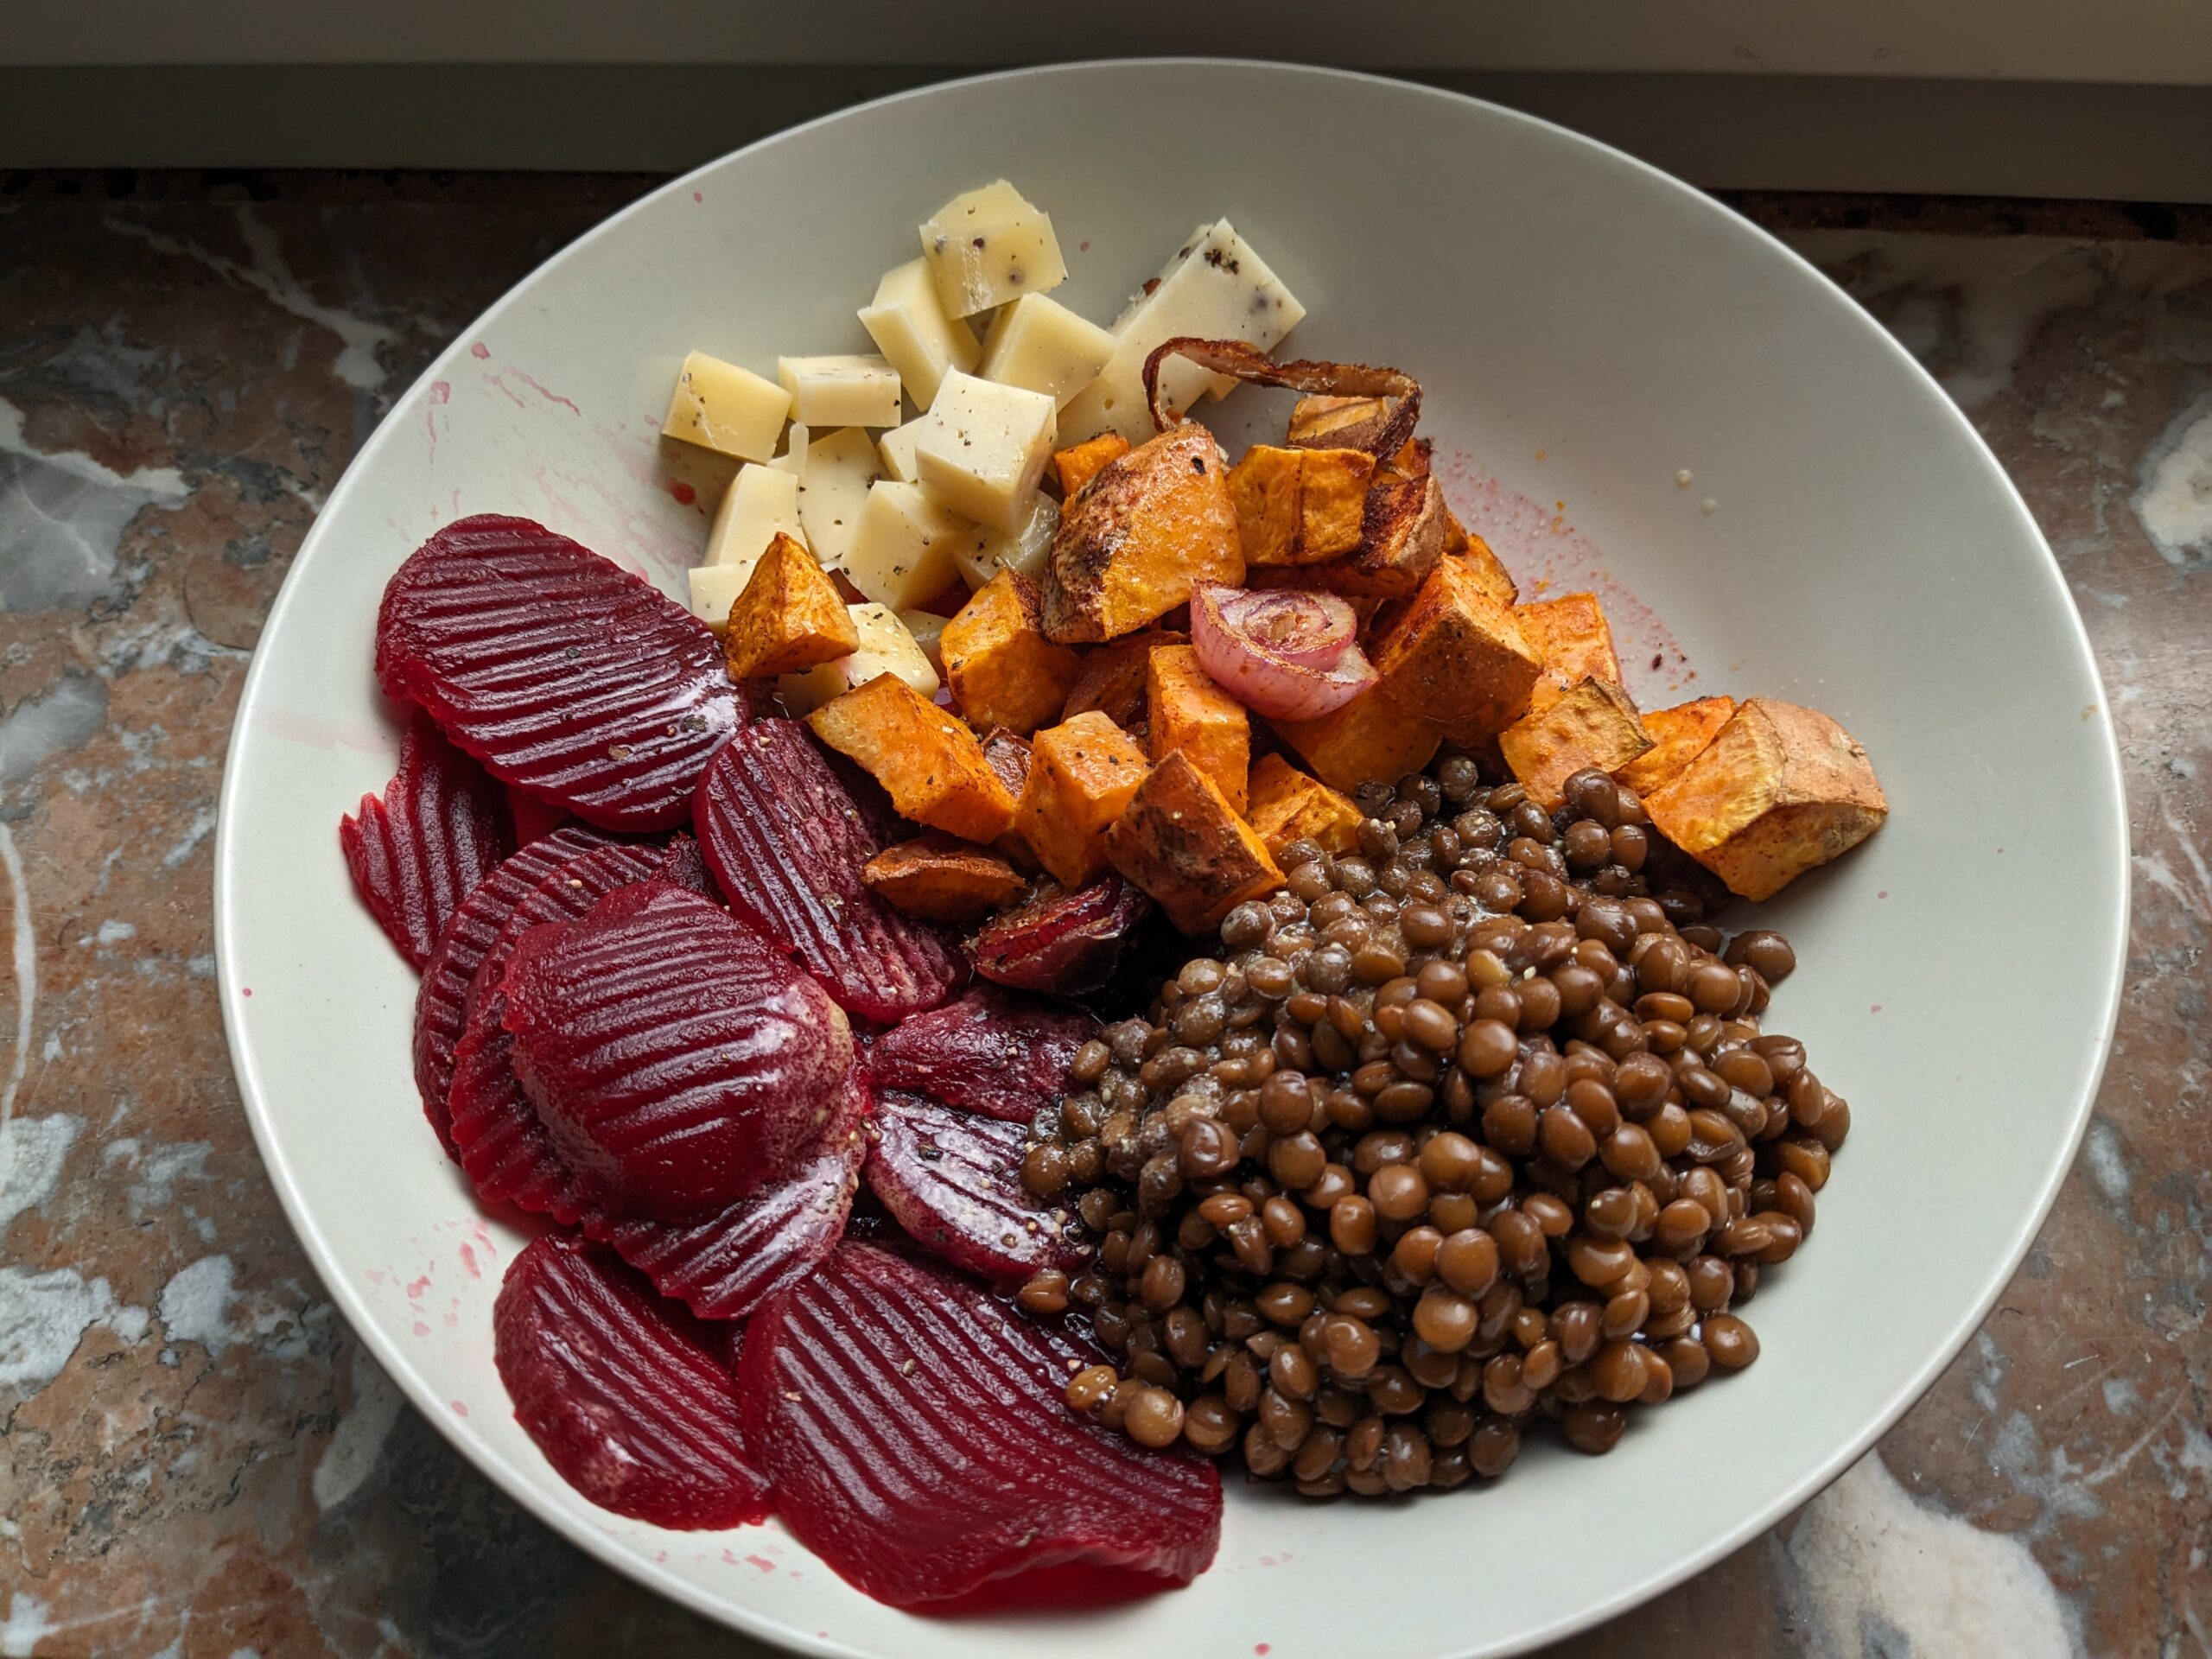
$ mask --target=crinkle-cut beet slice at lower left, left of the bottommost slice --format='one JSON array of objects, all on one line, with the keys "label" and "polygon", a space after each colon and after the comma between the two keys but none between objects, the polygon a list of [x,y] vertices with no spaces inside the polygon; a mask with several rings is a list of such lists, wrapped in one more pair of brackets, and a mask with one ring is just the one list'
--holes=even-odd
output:
[{"label": "crinkle-cut beet slice at lower left, left of the bottommost slice", "polygon": [[591,1502],[655,1526],[743,1526],[772,1509],[726,1354],[714,1327],[582,1239],[533,1239],[493,1307],[515,1422]]}]

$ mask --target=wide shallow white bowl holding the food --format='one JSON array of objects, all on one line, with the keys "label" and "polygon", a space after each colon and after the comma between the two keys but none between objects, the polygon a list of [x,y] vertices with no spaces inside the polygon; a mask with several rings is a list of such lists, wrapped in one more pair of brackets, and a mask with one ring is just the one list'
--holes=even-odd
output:
[{"label": "wide shallow white bowl holding the food", "polygon": [[[478,1214],[422,1126],[414,975],[354,900],[336,821],[392,770],[369,644],[416,542],[460,513],[524,513],[679,591],[703,520],[672,498],[655,431],[684,352],[765,369],[865,349],[854,307],[914,254],[911,226],[998,175],[1053,212],[1073,270],[1057,299],[1097,319],[1190,226],[1230,215],[1312,307],[1298,354],[1422,378],[1422,429],[1460,451],[1460,502],[1509,562],[1566,582],[1604,549],[1650,697],[1683,672],[1679,641],[1701,670],[1683,695],[1816,703],[1865,741],[1893,816],[1765,914],[1803,962],[1772,1022],[1849,1095],[1856,1133],[1816,1234],[1750,1310],[1756,1367],[1639,1418],[1608,1458],[1537,1444],[1489,1489],[1305,1506],[1234,1486],[1221,1559],[1175,1595],[945,1621],[865,1599],[774,1524],[668,1533],[593,1509],[515,1427],[491,1298],[520,1237]],[[1221,414],[1234,440],[1283,409],[1245,392]],[[551,259],[400,398],[316,520],[246,686],[217,847],[223,1018],[292,1225],[376,1358],[549,1526],[699,1613],[898,1659],[1517,1652],[1805,1502],[2011,1276],[2119,991],[2126,827],[2101,703],[1989,449],[1856,305],[1697,190],[1385,80],[1020,71],[677,179]]]}]

